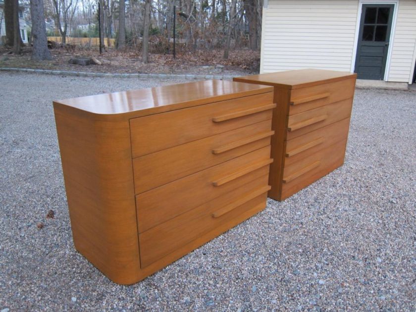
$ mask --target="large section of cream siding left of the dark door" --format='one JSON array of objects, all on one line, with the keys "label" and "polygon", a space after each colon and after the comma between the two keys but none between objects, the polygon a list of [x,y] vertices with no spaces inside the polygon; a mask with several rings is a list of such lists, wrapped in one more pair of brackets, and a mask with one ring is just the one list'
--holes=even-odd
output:
[{"label": "large section of cream siding left of the dark door", "polygon": [[350,71],[358,0],[269,0],[263,9],[260,72]]}]

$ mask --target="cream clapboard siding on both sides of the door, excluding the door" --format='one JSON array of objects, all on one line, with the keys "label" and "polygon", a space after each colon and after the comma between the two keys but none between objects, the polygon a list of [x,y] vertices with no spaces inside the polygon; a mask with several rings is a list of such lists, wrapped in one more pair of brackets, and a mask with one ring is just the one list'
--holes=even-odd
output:
[{"label": "cream clapboard siding on both sides of the door, excluding the door", "polygon": [[[350,71],[359,4],[359,0],[269,0],[263,9],[260,72]],[[388,81],[410,82],[416,58],[416,0],[400,0],[398,8],[386,70]]]}]

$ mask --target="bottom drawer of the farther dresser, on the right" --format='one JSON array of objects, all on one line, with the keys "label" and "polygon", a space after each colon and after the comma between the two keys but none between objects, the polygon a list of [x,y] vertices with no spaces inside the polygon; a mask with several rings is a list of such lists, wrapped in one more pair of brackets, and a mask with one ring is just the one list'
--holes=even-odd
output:
[{"label": "bottom drawer of the farther dresser, on the right", "polygon": [[282,200],[300,191],[344,163],[347,140],[318,151],[283,169]]}]

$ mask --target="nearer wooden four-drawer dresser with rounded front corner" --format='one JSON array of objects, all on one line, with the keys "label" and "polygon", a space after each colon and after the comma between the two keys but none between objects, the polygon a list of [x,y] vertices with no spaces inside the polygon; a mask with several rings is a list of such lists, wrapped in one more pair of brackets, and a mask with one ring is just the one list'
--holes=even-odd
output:
[{"label": "nearer wooden four-drawer dresser with rounded front corner", "polygon": [[53,102],[76,249],[131,284],[264,209],[275,106],[220,80]]}]

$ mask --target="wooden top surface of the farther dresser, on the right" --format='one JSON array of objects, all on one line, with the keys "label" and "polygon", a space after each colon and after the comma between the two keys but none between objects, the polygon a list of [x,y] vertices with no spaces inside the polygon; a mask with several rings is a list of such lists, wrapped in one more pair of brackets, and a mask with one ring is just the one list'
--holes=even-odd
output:
[{"label": "wooden top surface of the farther dresser, on the right", "polygon": [[276,73],[265,73],[259,75],[249,75],[235,77],[234,81],[251,82],[258,81],[261,84],[269,86],[278,86],[285,89],[299,89],[311,87],[322,83],[335,82],[344,79],[355,78],[357,74],[322,69],[298,69],[289,71],[280,71]]}]

